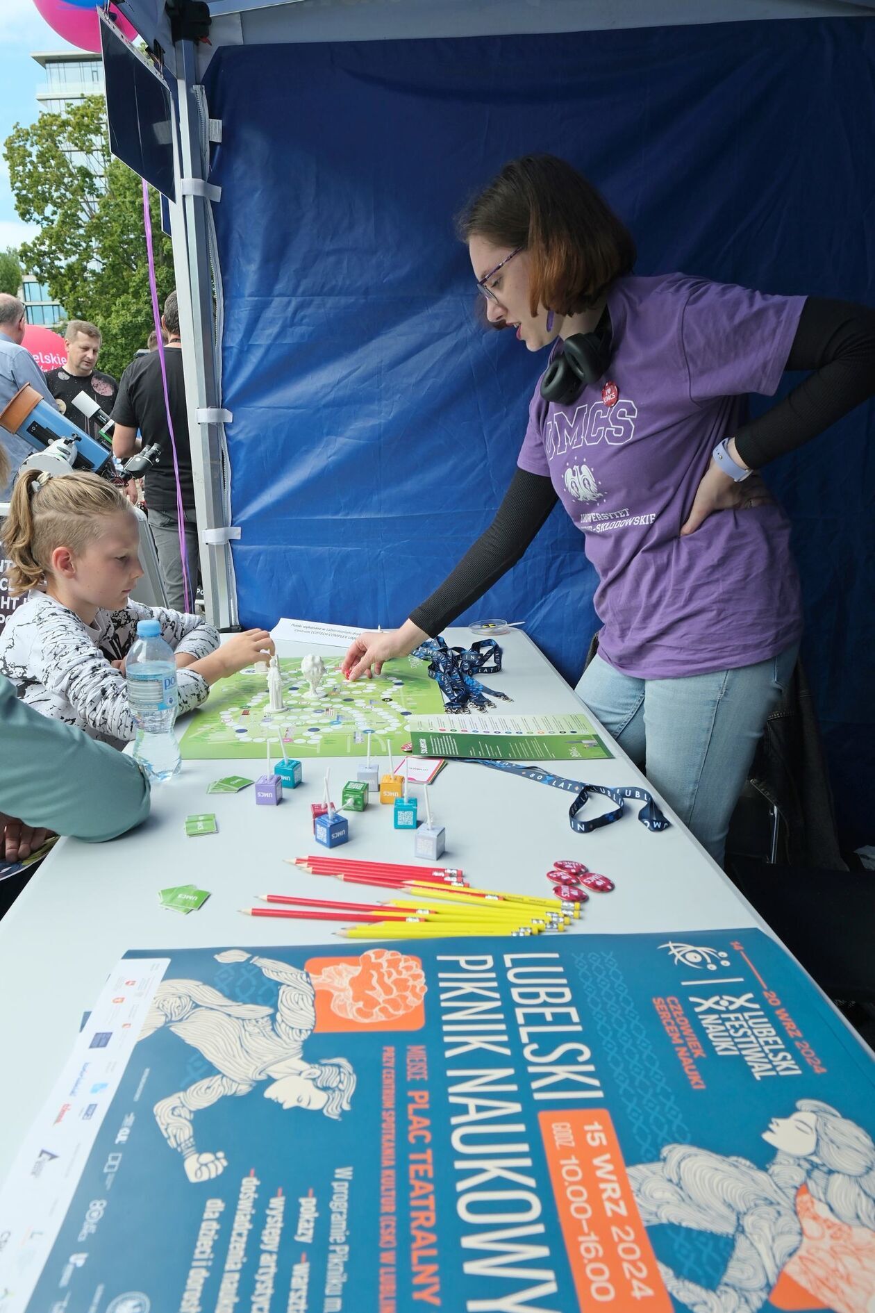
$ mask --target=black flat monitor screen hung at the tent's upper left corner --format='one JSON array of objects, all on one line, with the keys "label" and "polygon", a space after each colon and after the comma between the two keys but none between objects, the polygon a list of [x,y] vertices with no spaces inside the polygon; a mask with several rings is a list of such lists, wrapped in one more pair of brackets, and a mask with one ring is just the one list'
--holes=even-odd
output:
[{"label": "black flat monitor screen hung at the tent's upper left corner", "polygon": [[171,93],[164,79],[101,16],[109,148],[147,183],[176,200]]}]

